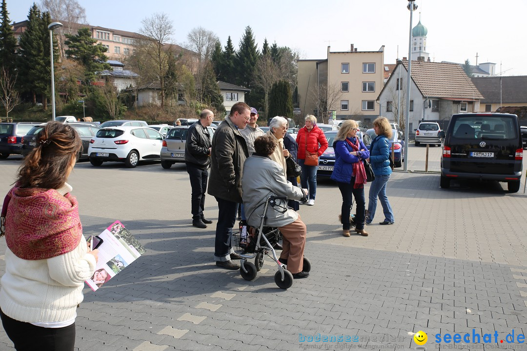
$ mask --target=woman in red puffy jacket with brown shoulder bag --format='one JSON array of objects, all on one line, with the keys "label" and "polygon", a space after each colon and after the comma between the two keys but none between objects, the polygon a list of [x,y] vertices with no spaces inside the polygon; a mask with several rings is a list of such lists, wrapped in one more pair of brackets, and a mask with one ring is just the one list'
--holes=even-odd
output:
[{"label": "woman in red puffy jacket with brown shoulder bag", "polygon": [[302,175],[300,176],[302,188],[308,189],[309,201],[307,204],[313,206],[317,195],[317,165],[306,166],[304,164],[306,152],[317,153],[320,156],[328,148],[324,131],[317,127],[315,116],[306,116],[306,125],[298,131],[296,142],[298,144],[298,164],[302,167]]}]

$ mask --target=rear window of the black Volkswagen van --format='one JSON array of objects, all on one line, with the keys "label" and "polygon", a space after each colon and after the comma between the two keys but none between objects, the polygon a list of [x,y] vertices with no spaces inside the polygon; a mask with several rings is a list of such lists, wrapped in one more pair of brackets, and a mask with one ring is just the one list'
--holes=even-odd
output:
[{"label": "rear window of the black Volkswagen van", "polygon": [[518,125],[508,116],[466,116],[454,122],[452,137],[458,139],[511,140],[518,138]]}]

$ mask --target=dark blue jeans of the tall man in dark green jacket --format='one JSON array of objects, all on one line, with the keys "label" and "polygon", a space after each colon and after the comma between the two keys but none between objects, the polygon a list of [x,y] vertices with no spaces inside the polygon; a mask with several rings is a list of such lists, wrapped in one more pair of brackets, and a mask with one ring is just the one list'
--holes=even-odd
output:
[{"label": "dark blue jeans of the tall man in dark green jacket", "polygon": [[238,203],[216,197],[218,202],[218,223],[216,223],[216,242],[214,260],[226,262],[234,253],[231,244],[232,227],[236,223]]}]

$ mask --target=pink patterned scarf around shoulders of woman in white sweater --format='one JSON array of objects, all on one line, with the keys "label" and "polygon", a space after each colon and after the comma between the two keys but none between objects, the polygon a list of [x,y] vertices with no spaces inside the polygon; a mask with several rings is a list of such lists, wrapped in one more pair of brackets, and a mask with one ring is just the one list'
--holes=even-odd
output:
[{"label": "pink patterned scarf around shoulders of woman in white sweater", "polygon": [[75,249],[82,225],[75,196],[55,189],[15,186],[2,207],[2,234],[7,247],[19,258],[46,259]]}]

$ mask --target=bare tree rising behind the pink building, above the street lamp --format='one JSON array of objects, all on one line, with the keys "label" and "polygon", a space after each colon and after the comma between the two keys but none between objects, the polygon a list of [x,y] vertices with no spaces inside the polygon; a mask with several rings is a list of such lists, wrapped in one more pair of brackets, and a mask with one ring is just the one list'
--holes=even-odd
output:
[{"label": "bare tree rising behind the pink building, above the street lamp", "polygon": [[76,34],[78,24],[88,24],[86,11],[77,0],[42,0],[41,8],[50,13],[53,21],[63,24],[56,36],[61,57],[65,57],[64,34]]}]

